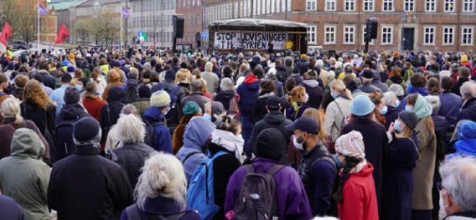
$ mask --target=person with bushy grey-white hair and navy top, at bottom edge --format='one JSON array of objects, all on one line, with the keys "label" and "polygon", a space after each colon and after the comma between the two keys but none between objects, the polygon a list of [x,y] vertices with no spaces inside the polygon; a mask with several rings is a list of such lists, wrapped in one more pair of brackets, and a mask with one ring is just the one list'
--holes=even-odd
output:
[{"label": "person with bushy grey-white hair and navy top, at bottom edge", "polygon": [[121,220],[156,216],[179,220],[200,219],[195,211],[186,207],[187,180],[177,158],[166,153],[152,153],[142,170],[134,190],[136,204],[122,212]]}]

